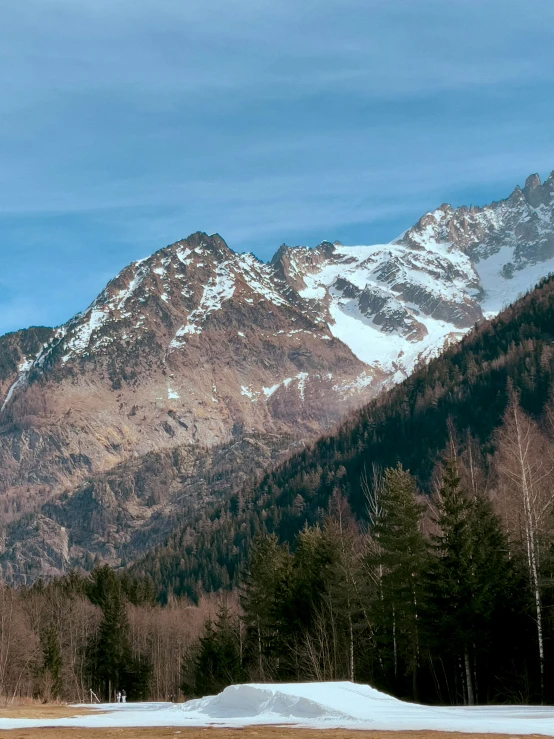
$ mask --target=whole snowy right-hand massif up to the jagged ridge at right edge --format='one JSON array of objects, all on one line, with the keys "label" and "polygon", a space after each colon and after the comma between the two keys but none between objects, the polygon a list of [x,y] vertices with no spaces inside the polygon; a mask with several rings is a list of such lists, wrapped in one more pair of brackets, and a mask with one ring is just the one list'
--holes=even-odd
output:
[{"label": "whole snowy right-hand massif up to the jagged ridge at right edge", "polygon": [[442,205],[391,244],[283,246],[273,263],[335,337],[396,382],[554,270],[554,173],[490,206]]}]

